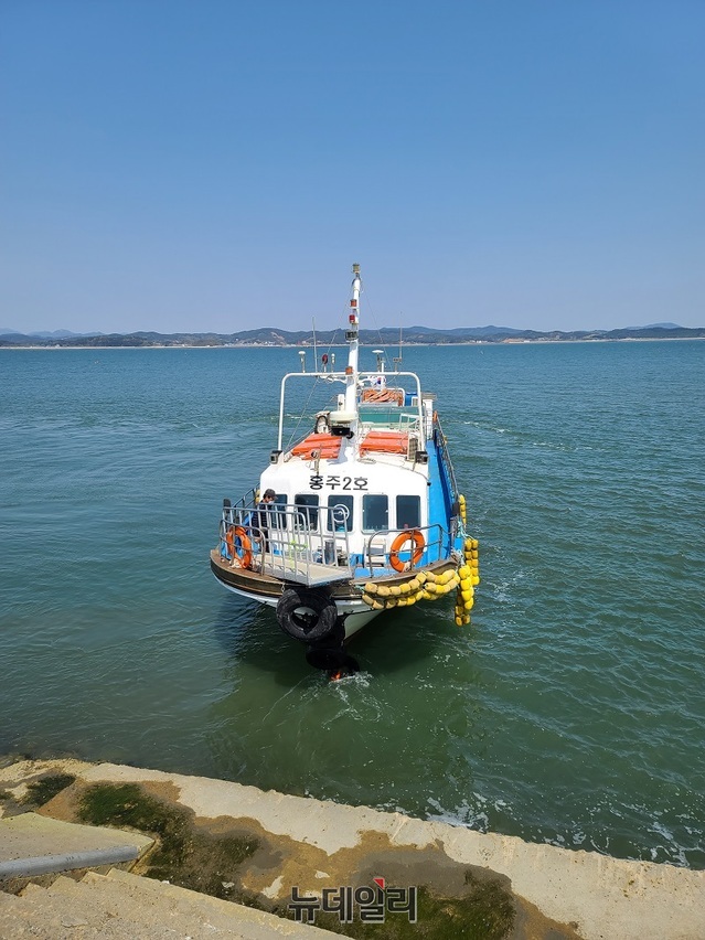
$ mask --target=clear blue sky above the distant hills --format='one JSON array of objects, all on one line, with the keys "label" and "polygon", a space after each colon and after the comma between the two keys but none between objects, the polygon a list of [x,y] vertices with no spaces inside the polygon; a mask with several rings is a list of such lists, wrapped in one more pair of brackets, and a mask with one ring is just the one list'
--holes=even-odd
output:
[{"label": "clear blue sky above the distant hills", "polygon": [[0,327],[705,325],[705,0],[2,0]]}]

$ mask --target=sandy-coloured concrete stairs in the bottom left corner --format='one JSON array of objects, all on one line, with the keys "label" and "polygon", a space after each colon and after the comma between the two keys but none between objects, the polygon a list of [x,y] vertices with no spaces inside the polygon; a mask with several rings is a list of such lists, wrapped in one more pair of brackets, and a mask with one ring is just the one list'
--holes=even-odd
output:
[{"label": "sandy-coloured concrete stairs in the bottom left corner", "polygon": [[46,940],[318,940],[338,934],[276,915],[113,869],[0,893],[0,937]]}]

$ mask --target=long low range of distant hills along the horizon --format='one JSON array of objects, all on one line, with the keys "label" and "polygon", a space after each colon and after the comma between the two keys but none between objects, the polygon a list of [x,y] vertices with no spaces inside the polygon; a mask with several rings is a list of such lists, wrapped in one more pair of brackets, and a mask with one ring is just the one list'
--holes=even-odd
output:
[{"label": "long low range of distant hills along the horizon", "polygon": [[[436,330],[432,327],[408,327],[402,332],[404,345],[451,345],[458,343],[510,343],[510,342],[567,342],[570,340],[639,340],[639,339],[701,339],[705,327],[686,328],[675,323],[655,323],[650,327],[632,327],[621,330],[515,330],[511,327],[457,327],[452,330]],[[321,330],[316,334],[319,345],[343,345],[344,330]],[[396,346],[399,343],[398,327],[382,330],[361,330],[362,345]],[[0,346],[292,346],[313,345],[311,330],[289,331],[275,327],[259,327],[238,333],[72,333],[70,330],[23,334],[0,330]]]}]

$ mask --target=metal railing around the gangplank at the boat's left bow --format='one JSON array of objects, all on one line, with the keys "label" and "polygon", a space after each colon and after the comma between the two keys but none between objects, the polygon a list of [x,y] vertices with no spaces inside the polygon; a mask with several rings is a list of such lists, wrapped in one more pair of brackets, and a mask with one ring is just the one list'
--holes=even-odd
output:
[{"label": "metal railing around the gangplank at the boat's left bow", "polygon": [[233,567],[308,587],[352,577],[346,516],[341,506],[242,501],[223,508],[221,557]]}]

